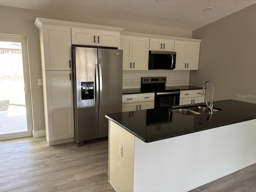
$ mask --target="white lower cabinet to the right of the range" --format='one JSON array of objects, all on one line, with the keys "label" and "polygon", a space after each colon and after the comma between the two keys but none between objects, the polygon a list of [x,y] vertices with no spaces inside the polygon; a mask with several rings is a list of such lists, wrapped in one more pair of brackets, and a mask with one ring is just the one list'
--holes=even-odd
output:
[{"label": "white lower cabinet to the right of the range", "polygon": [[180,105],[195,104],[204,102],[202,90],[184,90],[180,91]]}]

